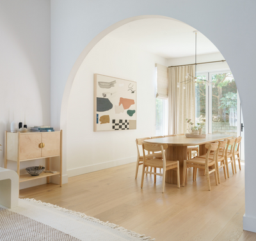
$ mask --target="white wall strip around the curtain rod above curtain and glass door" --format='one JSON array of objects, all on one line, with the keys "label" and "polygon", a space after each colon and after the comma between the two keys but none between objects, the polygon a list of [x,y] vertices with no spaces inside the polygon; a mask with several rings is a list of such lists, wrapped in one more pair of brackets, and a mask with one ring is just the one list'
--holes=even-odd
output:
[{"label": "white wall strip around the curtain rod above curtain and glass door", "polygon": [[[220,52],[214,54],[201,54],[196,56],[196,63],[205,63],[211,61],[225,60]],[[176,65],[189,65],[195,63],[195,56],[188,56],[182,58],[167,59],[168,66]],[[196,65],[197,72],[212,71],[212,70],[223,70],[228,69],[227,62],[209,63],[204,65]]]}]

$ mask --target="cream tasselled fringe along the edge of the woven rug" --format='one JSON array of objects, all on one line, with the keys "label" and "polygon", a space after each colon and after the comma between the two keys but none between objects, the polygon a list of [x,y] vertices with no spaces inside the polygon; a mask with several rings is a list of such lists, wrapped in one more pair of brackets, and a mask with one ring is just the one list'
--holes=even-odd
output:
[{"label": "cream tasselled fringe along the edge of the woven rug", "polygon": [[77,217],[81,217],[83,219],[86,219],[86,220],[89,220],[89,221],[92,221],[92,222],[97,222],[103,226],[108,226],[109,228],[114,228],[114,229],[117,229],[119,231],[122,231],[128,235],[131,235],[132,237],[136,237],[136,238],[140,238],[140,240],[143,240],[143,241],[154,241],[156,240],[155,238],[151,238],[151,237],[147,237],[146,235],[140,235],[140,233],[136,233],[134,231],[131,231],[131,230],[128,230],[128,229],[125,229],[117,224],[113,224],[111,222],[103,222],[103,221],[100,221],[100,219],[96,219],[95,217],[90,217],[86,214],[83,214],[81,212],[76,212],[76,211],[73,211],[73,210],[68,210],[67,208],[61,208],[60,206],[58,205],[53,205],[51,203],[44,203],[40,200],[36,200],[34,198],[23,198],[23,200],[26,200],[26,201],[31,201],[33,203],[39,203],[39,204],[42,204],[44,206],[48,206],[50,208],[56,208],[56,210],[60,210],[61,212],[65,212],[65,213],[68,213],[68,214],[72,214],[72,215],[76,215]]}]

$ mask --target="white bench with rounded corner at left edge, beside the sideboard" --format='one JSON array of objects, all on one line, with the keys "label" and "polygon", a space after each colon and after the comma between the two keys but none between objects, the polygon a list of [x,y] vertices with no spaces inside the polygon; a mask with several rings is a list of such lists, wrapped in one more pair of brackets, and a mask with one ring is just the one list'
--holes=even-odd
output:
[{"label": "white bench with rounded corner at left edge, beside the sideboard", "polygon": [[19,204],[19,176],[15,171],[0,167],[0,205],[15,208]]}]

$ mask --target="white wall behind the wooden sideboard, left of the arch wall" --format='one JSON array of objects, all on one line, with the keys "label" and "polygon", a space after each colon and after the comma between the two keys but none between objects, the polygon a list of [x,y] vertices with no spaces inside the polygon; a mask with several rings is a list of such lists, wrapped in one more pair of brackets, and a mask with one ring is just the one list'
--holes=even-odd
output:
[{"label": "white wall behind the wooden sideboard, left of the arch wall", "polygon": [[[4,167],[4,131],[10,123],[50,125],[50,1],[0,1],[0,166]],[[13,119],[14,113],[14,119]],[[40,161],[22,162],[24,168]],[[41,160],[40,164],[44,163]],[[9,161],[8,168],[17,169]],[[45,183],[20,183],[20,188]]]}]

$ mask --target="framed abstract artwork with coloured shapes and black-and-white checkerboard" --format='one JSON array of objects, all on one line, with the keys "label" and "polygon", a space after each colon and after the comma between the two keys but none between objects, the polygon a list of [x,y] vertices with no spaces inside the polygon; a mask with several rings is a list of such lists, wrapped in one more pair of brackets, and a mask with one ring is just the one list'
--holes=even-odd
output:
[{"label": "framed abstract artwork with coloured shapes and black-and-white checkerboard", "polygon": [[95,74],[94,91],[94,131],[136,129],[136,82]]}]

